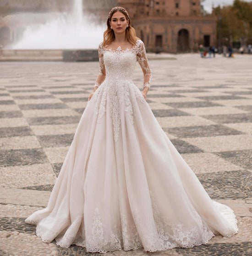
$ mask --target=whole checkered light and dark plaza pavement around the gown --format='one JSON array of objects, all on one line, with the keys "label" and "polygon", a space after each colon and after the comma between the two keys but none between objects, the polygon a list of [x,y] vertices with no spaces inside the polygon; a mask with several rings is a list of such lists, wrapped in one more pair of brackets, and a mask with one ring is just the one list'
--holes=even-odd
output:
[{"label": "whole checkered light and dark plaza pavement around the gown", "polygon": [[[148,102],[208,194],[235,211],[239,233],[192,249],[104,256],[252,255],[252,55],[161,57],[149,61]],[[43,243],[24,222],[47,205],[98,71],[98,62],[0,62],[1,256],[99,255]],[[134,81],[142,87],[139,65]]]}]

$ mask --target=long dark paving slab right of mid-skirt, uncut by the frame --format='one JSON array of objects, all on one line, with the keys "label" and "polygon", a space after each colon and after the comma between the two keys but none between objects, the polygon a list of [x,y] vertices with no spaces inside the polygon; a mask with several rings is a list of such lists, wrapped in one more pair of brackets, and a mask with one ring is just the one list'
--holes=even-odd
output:
[{"label": "long dark paving slab right of mid-skirt, uncut by the frame", "polygon": [[225,127],[223,125],[176,127],[176,128],[167,128],[167,130],[168,130],[168,133],[173,134],[179,138],[243,134],[240,131]]}]

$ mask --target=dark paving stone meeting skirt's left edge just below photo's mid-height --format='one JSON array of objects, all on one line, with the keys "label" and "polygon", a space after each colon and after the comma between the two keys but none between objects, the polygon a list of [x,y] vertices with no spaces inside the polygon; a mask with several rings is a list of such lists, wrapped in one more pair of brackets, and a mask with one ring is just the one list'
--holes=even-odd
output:
[{"label": "dark paving stone meeting skirt's left edge just below photo's mid-height", "polygon": [[43,147],[70,146],[74,134],[43,135],[37,136]]}]

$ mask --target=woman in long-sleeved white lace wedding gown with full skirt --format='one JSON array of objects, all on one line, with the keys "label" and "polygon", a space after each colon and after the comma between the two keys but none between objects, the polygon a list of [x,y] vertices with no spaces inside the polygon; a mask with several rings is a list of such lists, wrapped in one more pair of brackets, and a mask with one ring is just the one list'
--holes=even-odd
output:
[{"label": "woman in long-sleeved white lace wedding gown with full skirt", "polygon": [[[110,11],[100,73],[47,208],[26,219],[44,242],[89,252],[192,247],[236,234],[233,211],[211,200],[146,102],[151,72],[127,11]],[[142,93],[132,82],[142,67]]]}]

